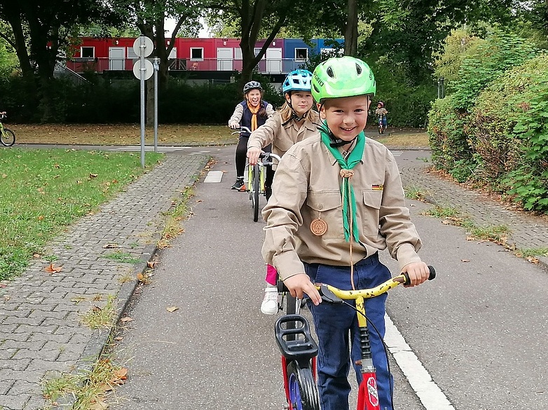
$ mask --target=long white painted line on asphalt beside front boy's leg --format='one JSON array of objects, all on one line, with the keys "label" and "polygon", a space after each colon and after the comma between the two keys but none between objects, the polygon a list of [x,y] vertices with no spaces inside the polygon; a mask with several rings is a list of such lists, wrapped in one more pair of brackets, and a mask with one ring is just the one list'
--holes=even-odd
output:
[{"label": "long white painted line on asphalt beside front boy's leg", "polygon": [[426,410],[455,410],[388,315],[385,344]]}]

